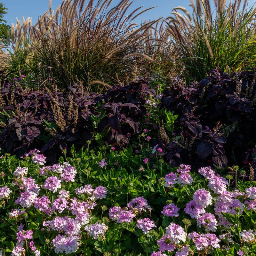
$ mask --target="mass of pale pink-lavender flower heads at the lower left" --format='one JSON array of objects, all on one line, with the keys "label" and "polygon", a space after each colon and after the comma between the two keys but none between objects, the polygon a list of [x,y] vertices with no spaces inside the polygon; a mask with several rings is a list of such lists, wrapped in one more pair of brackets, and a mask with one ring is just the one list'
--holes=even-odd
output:
[{"label": "mass of pale pink-lavender flower heads at the lower left", "polygon": [[[43,155],[36,154],[37,151],[34,154],[33,152],[30,153],[32,161],[40,166],[44,165],[45,158]],[[40,175],[44,177],[44,182],[40,185],[35,179],[28,177],[28,168],[17,167],[13,172],[16,177],[15,191],[19,192],[15,204],[26,209],[33,207],[48,216],[50,220],[43,221],[41,230],[58,232],[58,235],[51,242],[55,253],[70,254],[76,252],[81,244],[82,230],[85,230],[94,239],[104,238],[104,234],[108,230],[105,223],[98,221],[94,224],[90,223],[91,210],[97,205],[97,199],[106,198],[107,189],[103,186],[93,189],[92,185],[88,184],[75,189],[78,198],[70,197],[70,192],[63,187],[67,182],[75,181],[76,173],[75,168],[69,163],[45,166],[40,169]],[[7,186],[0,188],[0,199],[8,199],[11,193],[12,190]],[[85,200],[82,200],[81,196]],[[64,216],[56,216],[56,214],[64,212]],[[20,208],[12,209],[9,212],[9,219],[22,220],[20,216],[25,213],[26,211]],[[33,230],[25,230],[22,223],[18,225],[16,241],[11,256],[25,255],[26,250],[30,250],[35,256],[40,255],[41,252],[36,248],[33,241]],[[29,244],[28,247],[25,246],[25,242]]]}]

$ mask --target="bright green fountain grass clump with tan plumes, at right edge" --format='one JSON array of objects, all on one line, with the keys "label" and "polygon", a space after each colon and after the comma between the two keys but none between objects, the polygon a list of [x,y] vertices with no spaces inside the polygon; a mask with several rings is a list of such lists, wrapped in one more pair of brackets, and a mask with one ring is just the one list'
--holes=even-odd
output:
[{"label": "bright green fountain grass clump with tan plumes, at right edge", "polygon": [[[187,78],[200,80],[215,68],[231,69],[256,64],[256,8],[248,0],[215,0],[211,10],[209,0],[191,0],[193,13],[184,8],[173,9],[167,30],[180,60],[185,63]],[[181,13],[185,13],[181,18]]]}]

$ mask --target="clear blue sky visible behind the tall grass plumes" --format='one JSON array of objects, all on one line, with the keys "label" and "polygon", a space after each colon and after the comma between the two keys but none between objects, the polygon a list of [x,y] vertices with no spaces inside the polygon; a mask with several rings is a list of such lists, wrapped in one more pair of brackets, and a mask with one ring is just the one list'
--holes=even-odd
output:
[{"label": "clear blue sky visible behind the tall grass plumes", "polygon": [[[94,0],[97,2],[97,0]],[[229,1],[229,0],[228,0]],[[38,16],[43,14],[48,10],[48,0],[0,0],[6,8],[8,8],[8,14],[4,15],[4,19],[8,24],[16,23],[16,17],[22,21],[22,16],[25,20],[28,17],[32,17],[33,24],[36,23]],[[52,0],[52,9],[56,10],[57,6],[61,4],[62,0]],[[88,3],[89,0],[86,0]],[[194,1],[196,2],[196,1]],[[210,0],[212,4],[214,0]],[[249,0],[249,5],[254,4],[255,0]],[[113,5],[118,4],[119,0],[113,0]],[[134,0],[132,4],[132,9],[139,6],[144,6],[144,8],[149,8],[152,6],[157,6],[155,9],[143,13],[140,18],[136,19],[136,22],[141,22],[143,18],[146,20],[154,20],[159,18],[159,16],[168,17],[171,15],[172,9],[176,6],[183,6],[188,9],[191,13],[191,7],[189,7],[190,0]]]}]

